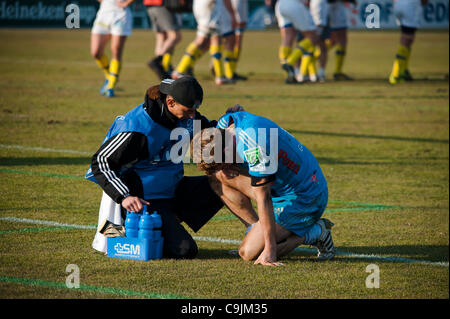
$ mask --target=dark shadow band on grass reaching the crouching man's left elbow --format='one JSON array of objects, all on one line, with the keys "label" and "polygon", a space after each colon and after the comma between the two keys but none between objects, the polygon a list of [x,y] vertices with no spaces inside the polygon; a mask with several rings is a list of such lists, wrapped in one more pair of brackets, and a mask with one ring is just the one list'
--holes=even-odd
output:
[{"label": "dark shadow band on grass reaching the crouching man's left elbow", "polygon": [[3,166],[89,165],[90,157],[0,157]]}]

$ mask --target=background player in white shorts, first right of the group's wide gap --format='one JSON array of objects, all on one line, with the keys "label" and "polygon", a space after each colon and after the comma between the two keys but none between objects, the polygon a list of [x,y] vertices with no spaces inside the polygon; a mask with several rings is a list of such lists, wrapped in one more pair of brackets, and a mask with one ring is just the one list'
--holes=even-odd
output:
[{"label": "background player in white shorts, first right of the group's wide gap", "polygon": [[[292,23],[294,28],[303,35],[303,39],[287,57],[286,63],[282,64],[282,69],[287,73],[286,83],[304,82],[308,73],[311,74],[309,70],[311,66],[314,66],[314,49],[319,43],[316,25],[303,0],[278,0],[277,10],[282,18],[282,24]],[[300,73],[296,78],[294,66],[300,58],[302,59]]]}]

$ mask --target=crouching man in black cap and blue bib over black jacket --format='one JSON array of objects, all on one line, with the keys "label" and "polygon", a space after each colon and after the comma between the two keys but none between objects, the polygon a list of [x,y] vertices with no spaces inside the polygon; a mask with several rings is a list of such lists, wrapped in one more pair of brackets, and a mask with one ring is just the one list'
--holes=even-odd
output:
[{"label": "crouching man in black cap and blue bib over black jacket", "polygon": [[103,189],[94,249],[106,252],[102,226],[123,225],[126,211],[148,205],[162,218],[163,257],[197,255],[194,239],[180,223],[197,232],[223,203],[206,176],[183,176],[183,162],[169,155],[177,142],[170,138],[173,129],[189,132],[194,119],[202,128],[216,124],[197,111],[202,100],[202,87],[193,77],[166,79],[147,90],[144,103],[116,118],[86,174]]}]

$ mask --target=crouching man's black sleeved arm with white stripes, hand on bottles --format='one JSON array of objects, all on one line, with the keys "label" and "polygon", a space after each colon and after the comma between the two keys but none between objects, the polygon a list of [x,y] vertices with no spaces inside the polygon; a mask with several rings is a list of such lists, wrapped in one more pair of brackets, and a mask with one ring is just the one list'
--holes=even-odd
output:
[{"label": "crouching man's black sleeved arm with white stripes, hand on bottles", "polygon": [[130,191],[121,169],[148,157],[147,139],[141,133],[122,132],[102,144],[91,161],[92,173],[100,187],[116,203],[138,212],[148,204]]}]

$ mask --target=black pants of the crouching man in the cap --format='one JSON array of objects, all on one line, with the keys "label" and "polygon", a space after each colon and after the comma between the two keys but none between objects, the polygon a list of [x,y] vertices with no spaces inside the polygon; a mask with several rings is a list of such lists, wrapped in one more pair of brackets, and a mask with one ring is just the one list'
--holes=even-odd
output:
[{"label": "black pants of the crouching man in the cap", "polygon": [[147,201],[150,202],[148,211],[157,211],[161,215],[163,258],[194,258],[198,253],[197,244],[181,222],[197,232],[223,207],[207,176],[185,176],[178,184],[174,198]]}]

